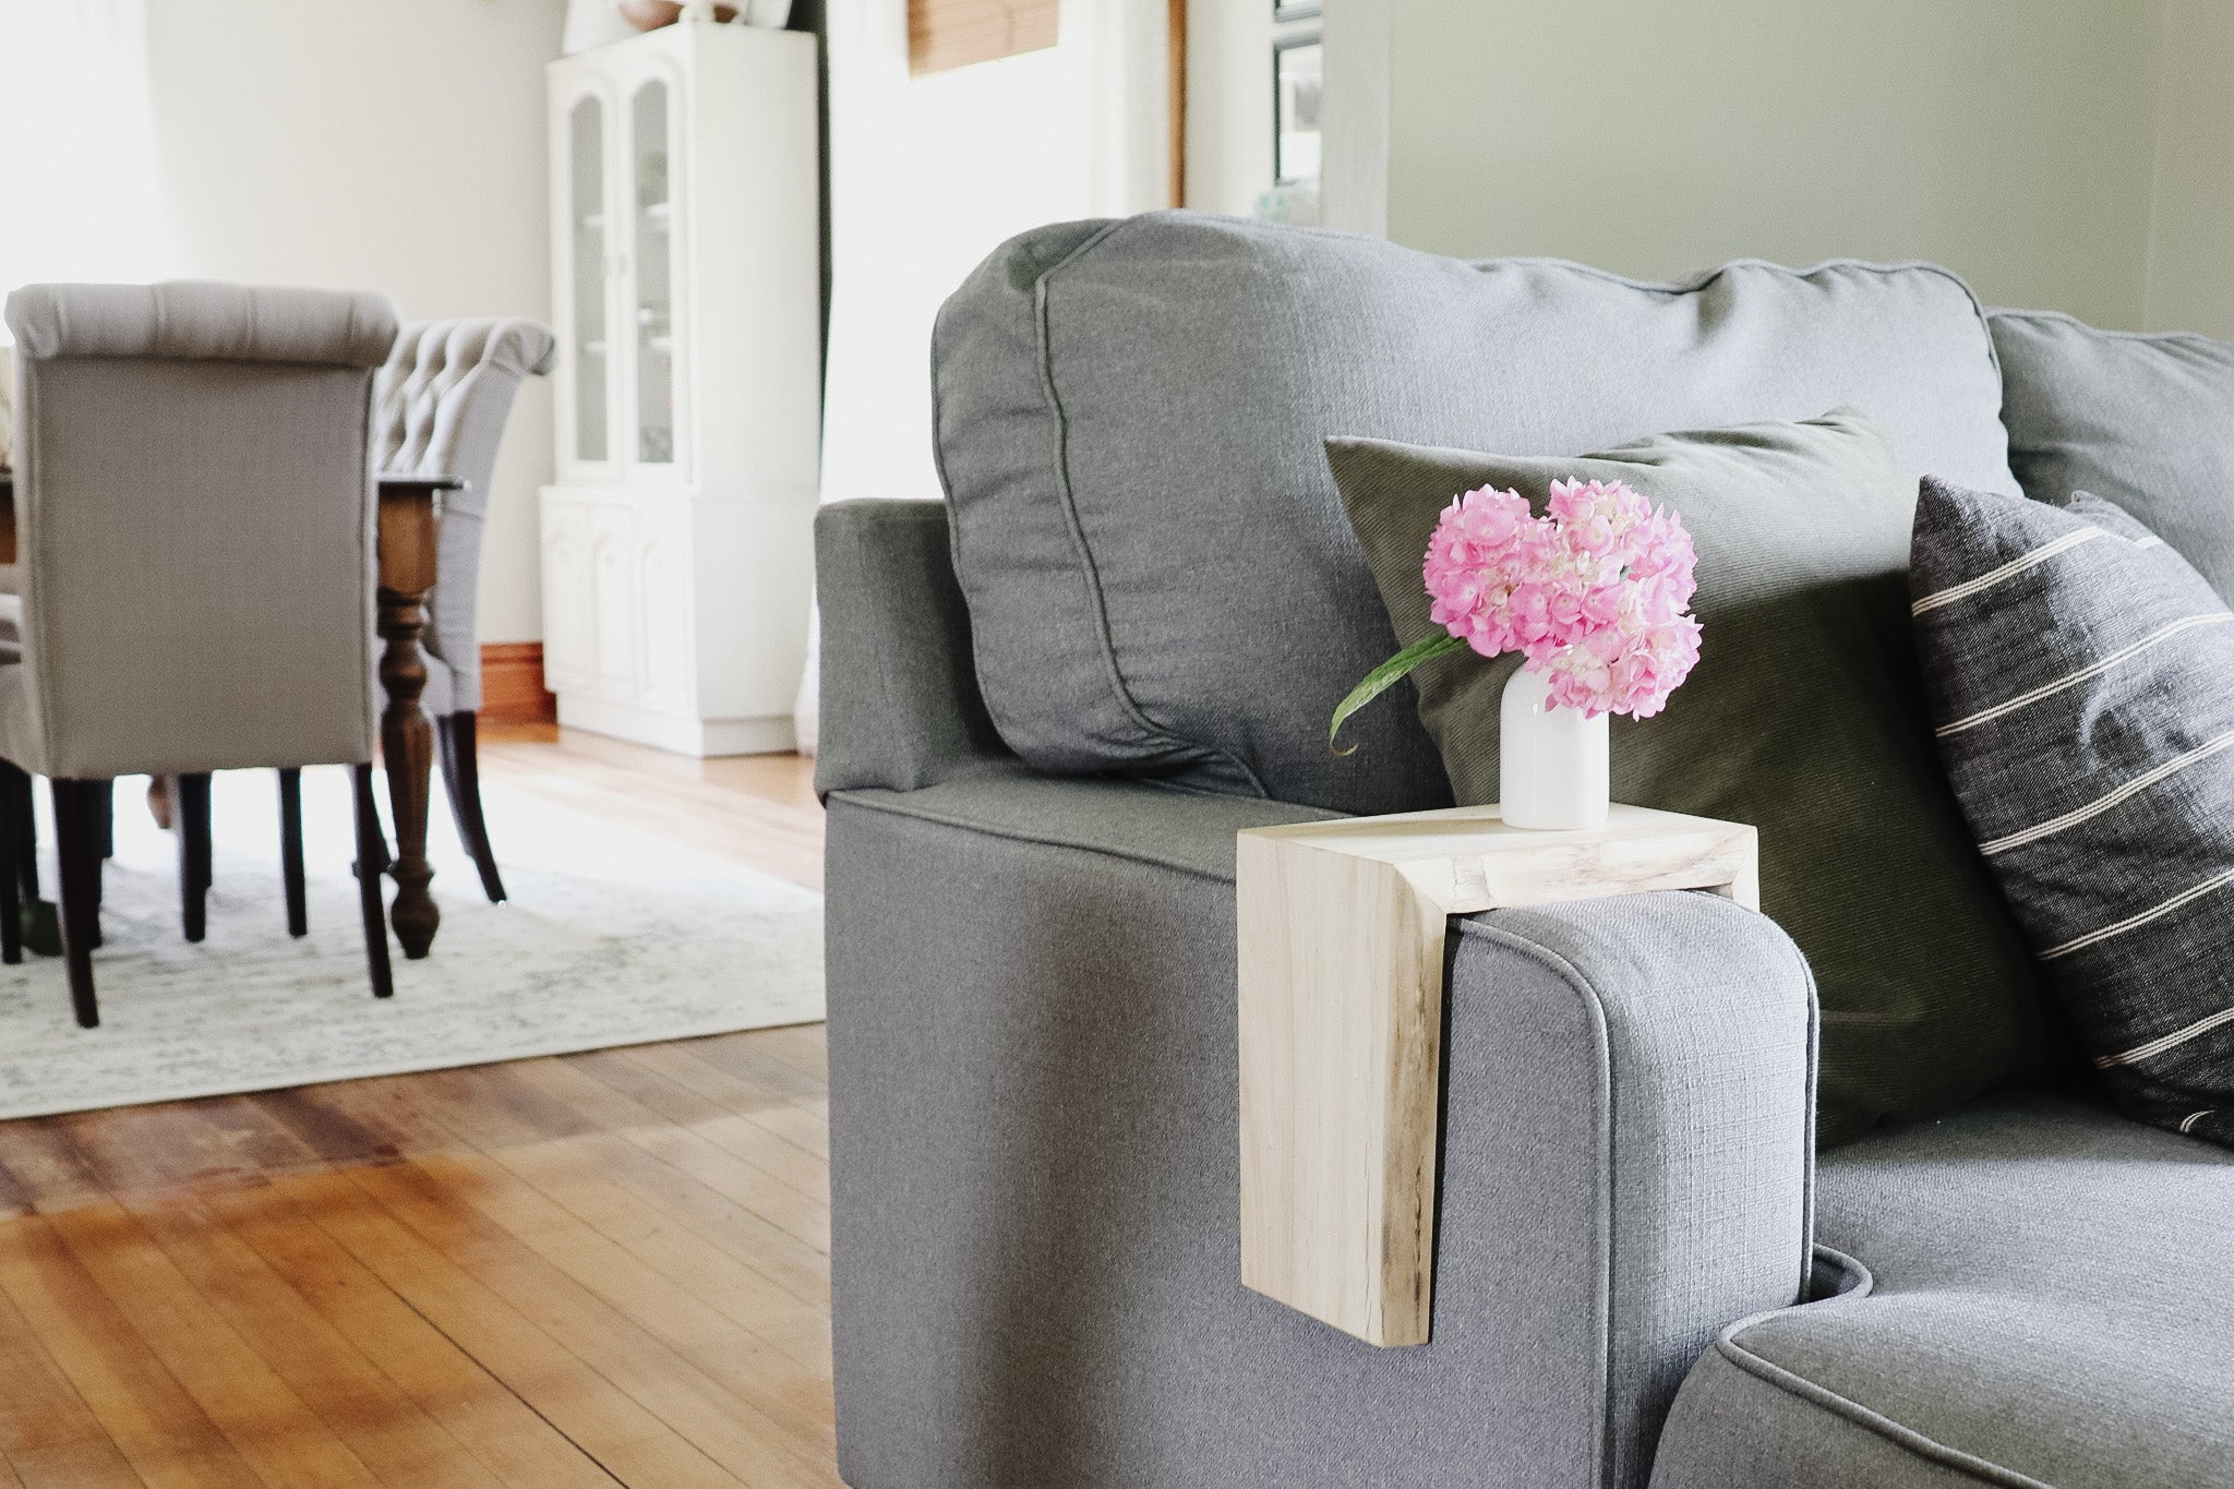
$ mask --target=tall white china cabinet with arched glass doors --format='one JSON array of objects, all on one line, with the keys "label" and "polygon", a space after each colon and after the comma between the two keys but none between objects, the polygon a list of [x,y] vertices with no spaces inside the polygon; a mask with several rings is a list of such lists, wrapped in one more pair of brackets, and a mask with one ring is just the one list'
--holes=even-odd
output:
[{"label": "tall white china cabinet with arched glass doors", "polygon": [[558,721],[789,750],[822,384],[815,42],[681,20],[550,67]]}]

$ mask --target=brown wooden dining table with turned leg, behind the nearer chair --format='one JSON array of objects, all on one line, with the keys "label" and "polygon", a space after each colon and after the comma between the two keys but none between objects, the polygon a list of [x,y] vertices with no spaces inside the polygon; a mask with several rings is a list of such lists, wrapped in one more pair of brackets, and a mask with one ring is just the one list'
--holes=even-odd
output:
[{"label": "brown wooden dining table with turned leg, behind the nearer chair", "polygon": [[[380,690],[386,694],[386,705],[380,712],[380,759],[389,772],[389,810],[395,817],[395,857],[386,871],[395,880],[389,926],[404,955],[413,960],[427,955],[442,924],[442,911],[429,888],[433,868],[427,864],[433,723],[420,708],[420,694],[427,690],[420,636],[427,630],[427,592],[433,589],[442,493],[462,489],[462,480],[447,475],[380,478],[380,578],[373,592],[373,625],[384,643]],[[0,467],[0,563],[16,563],[16,480],[7,467]]]}]

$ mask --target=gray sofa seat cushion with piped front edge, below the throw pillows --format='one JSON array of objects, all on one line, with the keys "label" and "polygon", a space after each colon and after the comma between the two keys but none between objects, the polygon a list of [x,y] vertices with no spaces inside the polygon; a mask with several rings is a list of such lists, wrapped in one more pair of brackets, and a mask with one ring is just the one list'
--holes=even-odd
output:
[{"label": "gray sofa seat cushion with piped front edge, below the throw pillows", "polygon": [[1725,1331],[1655,1489],[2234,1482],[2234,1154],[2017,1096],[1825,1154],[1868,1290]]}]

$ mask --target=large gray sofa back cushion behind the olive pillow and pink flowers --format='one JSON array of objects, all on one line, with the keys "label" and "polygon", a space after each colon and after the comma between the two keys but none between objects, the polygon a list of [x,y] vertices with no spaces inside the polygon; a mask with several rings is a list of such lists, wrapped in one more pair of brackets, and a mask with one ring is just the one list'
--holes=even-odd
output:
[{"label": "large gray sofa back cushion behind the olive pillow and pink flowers", "polygon": [[1729,263],[1638,284],[1191,212],[1028,232],[947,301],[936,444],[1008,746],[1352,813],[1441,806],[1403,708],[1325,721],[1394,645],[1325,435],[1562,455],[1662,429],[1877,417],[1910,475],[2015,491],[1953,275]]}]

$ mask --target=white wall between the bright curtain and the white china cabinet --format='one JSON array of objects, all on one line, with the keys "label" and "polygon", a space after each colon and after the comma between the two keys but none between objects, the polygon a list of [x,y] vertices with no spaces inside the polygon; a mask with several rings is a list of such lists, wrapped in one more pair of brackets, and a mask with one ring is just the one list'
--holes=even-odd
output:
[{"label": "white wall between the bright curtain and the white china cabinet", "polygon": [[[407,319],[550,319],[543,65],[563,0],[152,0],[165,272],[373,288]],[[543,634],[550,384],[489,493],[485,641]]]}]

